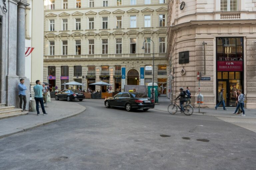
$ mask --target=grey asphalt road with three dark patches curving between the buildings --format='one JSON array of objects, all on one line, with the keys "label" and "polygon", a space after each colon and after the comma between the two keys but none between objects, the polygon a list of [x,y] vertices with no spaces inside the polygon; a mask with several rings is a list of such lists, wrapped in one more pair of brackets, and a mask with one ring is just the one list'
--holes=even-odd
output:
[{"label": "grey asphalt road with three dark patches curving between the buildings", "polygon": [[[0,170],[255,170],[256,133],[214,117],[78,102],[75,117],[0,139]],[[67,102],[67,105],[72,102]]]}]

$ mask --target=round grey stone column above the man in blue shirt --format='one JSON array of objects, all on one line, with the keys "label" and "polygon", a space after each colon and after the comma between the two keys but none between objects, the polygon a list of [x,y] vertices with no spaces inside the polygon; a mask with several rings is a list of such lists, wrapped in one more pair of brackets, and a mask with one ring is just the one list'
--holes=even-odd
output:
[{"label": "round grey stone column above the man in blue shirt", "polygon": [[26,2],[18,3],[17,11],[17,75],[25,76],[25,8]]}]

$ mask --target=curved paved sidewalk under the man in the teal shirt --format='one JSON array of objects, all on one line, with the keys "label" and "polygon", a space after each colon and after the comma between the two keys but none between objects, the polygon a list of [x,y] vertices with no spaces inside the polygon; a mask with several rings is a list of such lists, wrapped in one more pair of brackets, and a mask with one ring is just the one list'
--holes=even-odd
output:
[{"label": "curved paved sidewalk under the man in the teal shirt", "polygon": [[85,111],[86,108],[79,105],[77,101],[52,100],[47,103],[45,110],[48,113],[45,116],[43,116],[42,109],[39,108],[40,116],[37,116],[36,112],[29,112],[27,115],[1,119],[0,138],[75,116]]}]

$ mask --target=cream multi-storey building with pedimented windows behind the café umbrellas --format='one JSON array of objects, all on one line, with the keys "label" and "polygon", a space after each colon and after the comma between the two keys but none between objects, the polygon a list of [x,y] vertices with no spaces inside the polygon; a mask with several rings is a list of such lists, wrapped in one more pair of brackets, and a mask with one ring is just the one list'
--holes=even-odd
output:
[{"label": "cream multi-storey building with pedimented windows behind the caf\u00e9 umbrellas", "polygon": [[90,84],[102,80],[120,91],[152,82],[154,67],[167,95],[167,14],[165,0],[45,1],[44,81],[51,75],[51,87],[77,81],[100,90]]}]

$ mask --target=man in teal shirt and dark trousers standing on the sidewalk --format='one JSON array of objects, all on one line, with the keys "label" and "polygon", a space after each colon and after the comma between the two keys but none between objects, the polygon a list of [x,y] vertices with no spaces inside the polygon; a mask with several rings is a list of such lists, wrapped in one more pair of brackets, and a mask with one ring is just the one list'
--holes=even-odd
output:
[{"label": "man in teal shirt and dark trousers standing on the sidewalk", "polygon": [[39,112],[39,102],[43,111],[43,115],[47,115],[47,113],[44,110],[44,100],[43,100],[43,86],[41,86],[40,80],[36,80],[36,85],[33,87],[34,92],[35,92],[35,101],[36,101],[36,112],[37,116],[40,115]]}]

